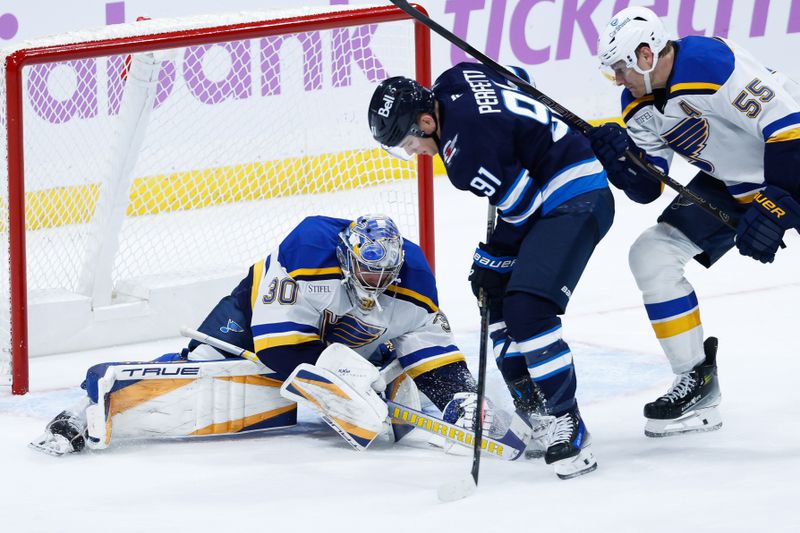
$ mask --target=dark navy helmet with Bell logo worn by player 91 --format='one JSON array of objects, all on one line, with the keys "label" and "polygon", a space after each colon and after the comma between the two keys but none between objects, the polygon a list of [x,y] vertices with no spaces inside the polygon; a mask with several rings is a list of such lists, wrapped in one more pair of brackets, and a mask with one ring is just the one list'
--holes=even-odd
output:
[{"label": "dark navy helmet with Bell logo worn by player 91", "polygon": [[411,149],[418,139],[434,137],[417,126],[419,116],[434,115],[434,109],[430,89],[403,76],[387,78],[375,89],[369,103],[369,128],[384,150],[407,161],[414,155]]}]

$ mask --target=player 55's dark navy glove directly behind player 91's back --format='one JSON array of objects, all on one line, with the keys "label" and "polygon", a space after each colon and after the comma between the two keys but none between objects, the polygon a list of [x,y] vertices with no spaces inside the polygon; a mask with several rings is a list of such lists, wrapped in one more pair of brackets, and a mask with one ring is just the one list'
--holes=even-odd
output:
[{"label": "player 55's dark navy glove directly behind player 91's back", "polygon": [[625,157],[627,150],[643,160],[647,156],[646,152],[628,137],[625,129],[619,124],[609,122],[590,129],[586,132],[586,137],[597,159],[606,169],[608,181],[616,188],[625,191],[634,202],[642,204],[658,198],[661,194],[661,184],[643,170],[631,165]]}]

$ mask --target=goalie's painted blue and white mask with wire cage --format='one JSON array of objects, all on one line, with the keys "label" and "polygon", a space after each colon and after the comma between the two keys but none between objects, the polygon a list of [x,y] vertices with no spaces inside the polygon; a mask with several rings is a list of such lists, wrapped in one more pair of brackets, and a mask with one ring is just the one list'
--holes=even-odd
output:
[{"label": "goalie's painted blue and white mask with wire cage", "polygon": [[350,297],[369,311],[400,275],[403,238],[391,218],[360,216],[339,233],[336,257]]}]

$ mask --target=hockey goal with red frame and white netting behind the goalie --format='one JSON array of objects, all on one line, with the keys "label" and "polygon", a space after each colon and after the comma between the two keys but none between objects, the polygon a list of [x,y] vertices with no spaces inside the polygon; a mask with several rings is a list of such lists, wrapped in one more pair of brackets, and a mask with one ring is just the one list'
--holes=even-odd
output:
[{"label": "hockey goal with red frame and white netting behind the goalie", "polygon": [[334,6],[2,50],[0,381],[175,336],[307,215],[387,213],[432,262],[430,159],[387,157],[366,123],[385,77],[430,84],[428,44],[395,7]]}]

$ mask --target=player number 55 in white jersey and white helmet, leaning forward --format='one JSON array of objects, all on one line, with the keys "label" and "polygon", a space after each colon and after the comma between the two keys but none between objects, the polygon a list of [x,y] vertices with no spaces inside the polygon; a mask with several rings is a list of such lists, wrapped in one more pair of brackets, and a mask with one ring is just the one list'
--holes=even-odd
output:
[{"label": "player number 55 in white jersey and white helmet, leaning forward", "polygon": [[645,433],[716,429],[717,341],[703,342],[684,269],[692,258],[710,267],[734,245],[772,262],[785,231],[800,226],[800,86],[725,39],[670,40],[643,7],[611,19],[599,57],[625,86],[627,129],[609,123],[589,133],[609,181],[636,202],[653,201],[663,186],[628,165],[624,153],[664,172],[677,153],[699,169],[688,188],[738,219],[734,231],[678,197],[630,251],[647,314],[676,374],[670,390],[645,406]]}]

